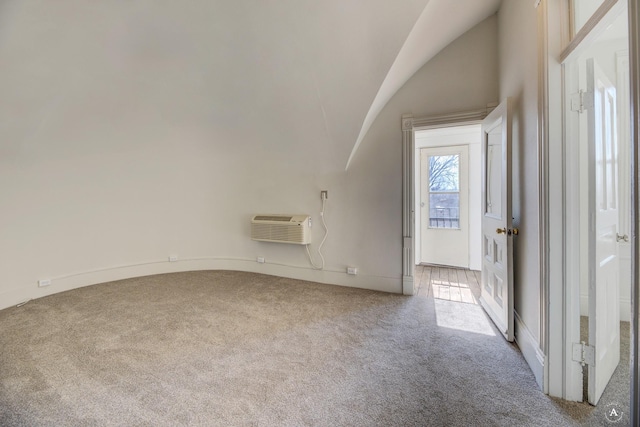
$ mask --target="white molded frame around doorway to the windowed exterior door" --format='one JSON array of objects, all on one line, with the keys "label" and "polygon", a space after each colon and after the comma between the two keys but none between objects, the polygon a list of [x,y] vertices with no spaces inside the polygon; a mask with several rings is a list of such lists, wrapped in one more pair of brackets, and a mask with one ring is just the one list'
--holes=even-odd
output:
[{"label": "white molded frame around doorway to the windowed exterior door", "polygon": [[418,130],[480,124],[495,106],[438,116],[402,115],[402,293],[415,295],[415,132]]}]

